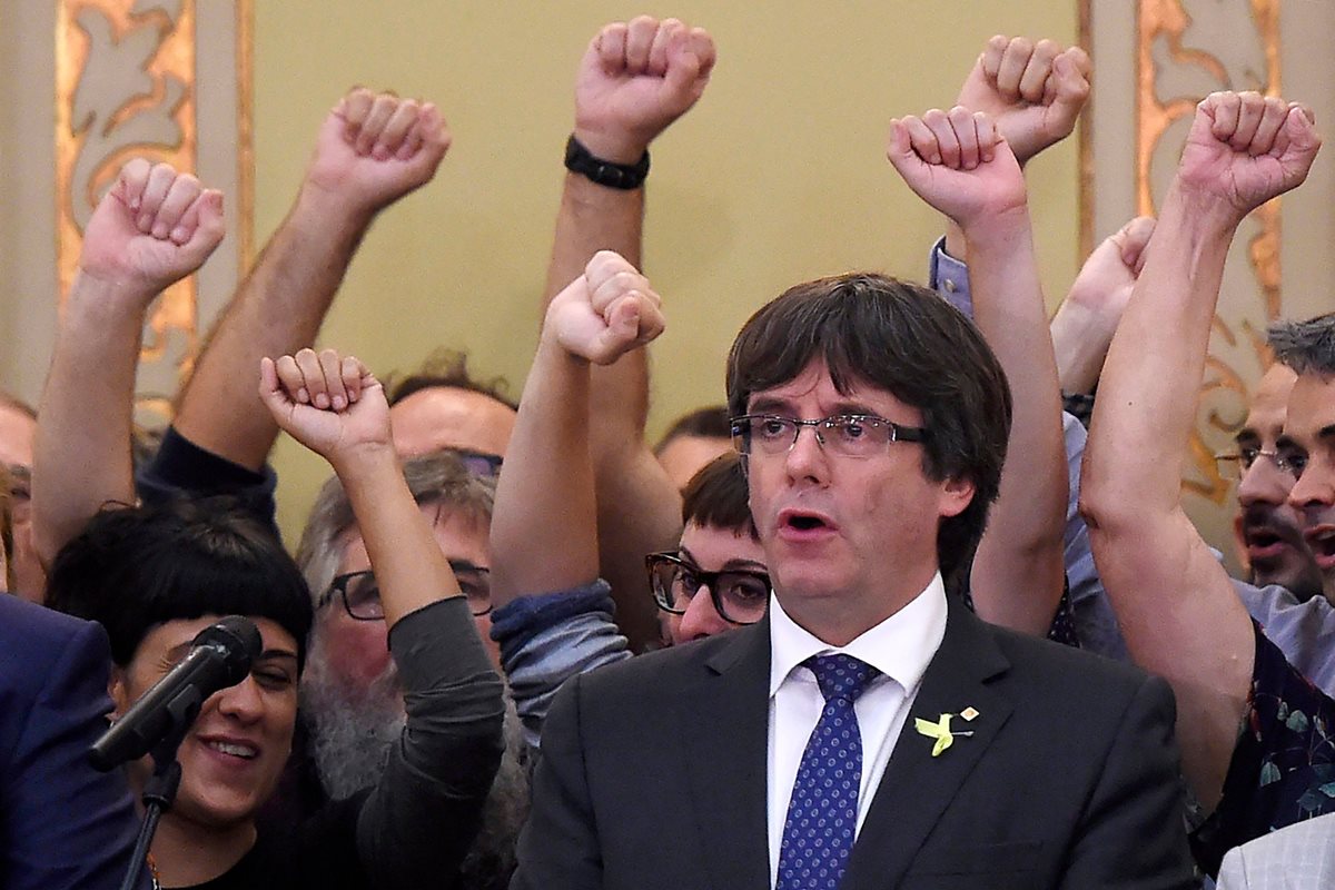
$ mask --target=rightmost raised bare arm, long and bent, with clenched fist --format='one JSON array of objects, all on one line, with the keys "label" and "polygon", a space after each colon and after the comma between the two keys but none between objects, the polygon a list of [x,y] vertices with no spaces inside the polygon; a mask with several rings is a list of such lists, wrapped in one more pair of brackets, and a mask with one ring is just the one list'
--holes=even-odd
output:
[{"label": "rightmost raised bare arm, long and bent, with clenched fist", "polygon": [[1132,658],[1172,683],[1183,771],[1212,807],[1251,690],[1251,619],[1181,507],[1224,259],[1252,209],[1306,177],[1307,109],[1214,93],[1196,109],[1108,351],[1081,479],[1095,560]]}]

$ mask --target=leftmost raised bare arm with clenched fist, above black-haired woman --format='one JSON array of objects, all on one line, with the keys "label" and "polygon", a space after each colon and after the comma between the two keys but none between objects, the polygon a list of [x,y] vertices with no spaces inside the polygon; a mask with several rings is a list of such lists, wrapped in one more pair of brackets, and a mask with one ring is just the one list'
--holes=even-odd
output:
[{"label": "leftmost raised bare arm with clenched fist, above black-haired woman", "polygon": [[129,432],[148,306],[222,239],[222,193],[168,164],[129,161],[97,203],[41,396],[32,516],[43,563],[104,503],[135,502]]}]

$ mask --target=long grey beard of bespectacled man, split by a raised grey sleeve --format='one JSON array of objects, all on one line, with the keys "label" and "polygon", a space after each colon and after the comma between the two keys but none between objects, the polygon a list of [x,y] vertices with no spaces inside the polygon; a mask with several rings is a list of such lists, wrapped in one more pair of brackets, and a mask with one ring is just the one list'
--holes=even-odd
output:
[{"label": "long grey beard of bespectacled man, split by a raised grey sleeve", "polygon": [[[398,670],[390,662],[364,691],[348,694],[328,682],[312,652],[302,678],[302,706],[311,730],[310,754],[331,799],[350,798],[380,781],[407,718]],[[529,746],[509,690],[505,753],[482,811],[482,827],[461,866],[462,887],[502,890],[515,867],[515,842],[529,815]]]}]

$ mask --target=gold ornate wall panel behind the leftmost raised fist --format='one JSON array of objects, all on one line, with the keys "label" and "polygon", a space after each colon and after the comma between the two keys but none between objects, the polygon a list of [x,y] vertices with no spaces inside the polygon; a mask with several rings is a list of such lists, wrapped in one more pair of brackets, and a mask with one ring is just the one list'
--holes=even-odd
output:
[{"label": "gold ornate wall panel behind the leftmost raised fist", "polygon": [[248,0],[56,4],[59,292],[73,279],[93,207],[128,159],[170,163],[228,199],[224,248],[163,294],[144,331],[136,398],[162,418],[250,258],[250,21]]}]

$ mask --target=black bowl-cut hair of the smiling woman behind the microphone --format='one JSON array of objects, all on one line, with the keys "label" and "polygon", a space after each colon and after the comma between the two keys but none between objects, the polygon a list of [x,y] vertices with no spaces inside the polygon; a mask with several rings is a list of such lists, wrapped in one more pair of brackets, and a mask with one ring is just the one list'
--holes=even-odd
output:
[{"label": "black bowl-cut hair of the smiling woman behind the microphone", "polygon": [[104,507],[51,563],[47,606],[100,622],[128,664],[158,624],[268,618],[306,660],[311,598],[283,546],[230,498]]}]

